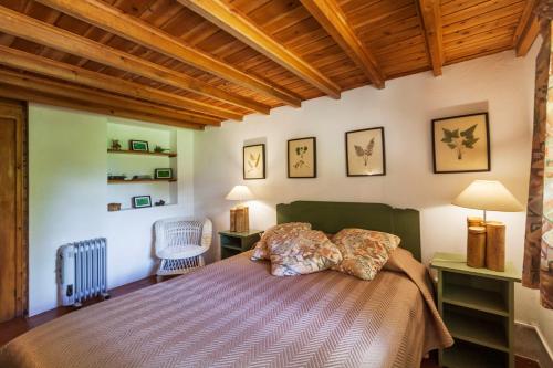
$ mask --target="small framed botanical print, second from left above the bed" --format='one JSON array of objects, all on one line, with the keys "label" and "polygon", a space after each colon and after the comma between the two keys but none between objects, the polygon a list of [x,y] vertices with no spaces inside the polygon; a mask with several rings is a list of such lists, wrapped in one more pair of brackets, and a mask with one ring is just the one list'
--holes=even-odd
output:
[{"label": "small framed botanical print, second from left above the bed", "polygon": [[316,138],[288,141],[288,177],[316,178]]}]

